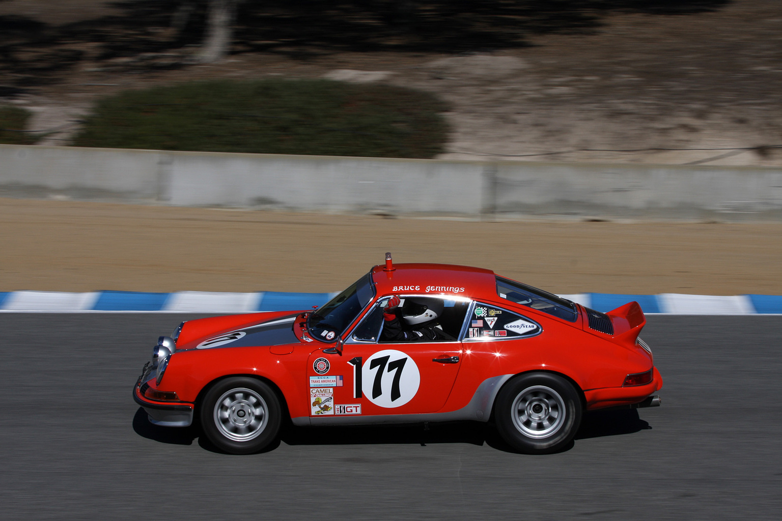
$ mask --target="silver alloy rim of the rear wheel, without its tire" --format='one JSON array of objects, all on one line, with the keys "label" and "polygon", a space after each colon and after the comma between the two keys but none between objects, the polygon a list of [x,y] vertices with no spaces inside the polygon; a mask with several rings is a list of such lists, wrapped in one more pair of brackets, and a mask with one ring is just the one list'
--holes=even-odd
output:
[{"label": "silver alloy rim of the rear wheel, without its tire", "polygon": [[511,417],[516,428],[527,437],[548,437],[565,423],[565,401],[557,391],[533,385],[518,393]]}]

